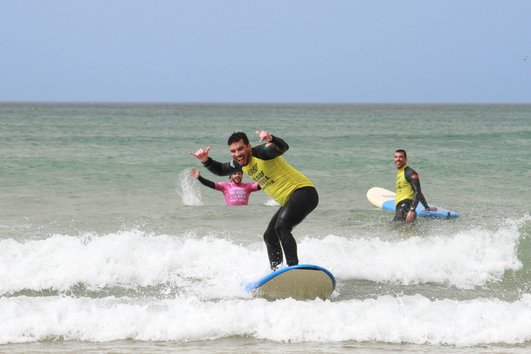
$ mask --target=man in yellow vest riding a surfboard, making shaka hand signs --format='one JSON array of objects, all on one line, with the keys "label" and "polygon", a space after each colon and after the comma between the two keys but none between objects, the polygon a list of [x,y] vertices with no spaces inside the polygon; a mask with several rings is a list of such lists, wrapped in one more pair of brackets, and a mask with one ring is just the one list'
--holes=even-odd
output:
[{"label": "man in yellow vest riding a surfboard, making shaka hand signs", "polygon": [[257,131],[257,134],[260,142],[267,142],[256,147],[251,147],[245,133],[230,136],[227,142],[233,158],[230,162],[212,160],[208,156],[210,147],[191,154],[217,176],[245,172],[281,205],[263,234],[270,267],[276,270],[283,262],[282,251],[288,265],[299,264],[297,242],[291,231],[317,207],[319,195],[313,183],[281,157],[289,149],[284,140],[267,131]]}]

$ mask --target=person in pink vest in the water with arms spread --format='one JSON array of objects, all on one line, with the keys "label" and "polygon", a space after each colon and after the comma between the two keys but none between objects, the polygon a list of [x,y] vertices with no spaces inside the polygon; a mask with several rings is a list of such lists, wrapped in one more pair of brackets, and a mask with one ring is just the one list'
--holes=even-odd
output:
[{"label": "person in pink vest in the water with arms spread", "polygon": [[192,169],[190,174],[203,185],[223,192],[227,205],[248,205],[251,192],[257,192],[261,189],[258,183],[241,183],[241,172],[230,175],[230,183],[207,180],[201,177],[201,174],[196,169]]}]

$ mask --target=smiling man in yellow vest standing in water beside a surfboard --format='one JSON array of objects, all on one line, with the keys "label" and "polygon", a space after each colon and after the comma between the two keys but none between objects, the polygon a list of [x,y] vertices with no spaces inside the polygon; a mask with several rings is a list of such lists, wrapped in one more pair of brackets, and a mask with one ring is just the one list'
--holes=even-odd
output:
[{"label": "smiling man in yellow vest standing in water beside a surfboard", "polygon": [[396,174],[396,212],[394,221],[410,222],[417,217],[416,208],[422,203],[427,210],[436,211],[436,207],[429,207],[426,198],[420,190],[418,174],[407,165],[407,153],[404,150],[395,151]]}]

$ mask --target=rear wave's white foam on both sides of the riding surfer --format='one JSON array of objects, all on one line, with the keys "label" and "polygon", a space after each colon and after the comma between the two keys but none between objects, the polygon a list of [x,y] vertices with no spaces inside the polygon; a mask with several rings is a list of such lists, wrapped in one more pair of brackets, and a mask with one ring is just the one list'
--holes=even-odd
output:
[{"label": "rear wave's white foam on both sides of the riding surfer", "polygon": [[[301,263],[322,265],[339,281],[433,282],[469,289],[501,281],[506,270],[522,267],[519,236],[517,225],[400,241],[328,235],[299,239],[298,249]],[[0,241],[0,295],[64,292],[78,284],[98,290],[169,283],[201,297],[240,297],[242,283],[267,272],[259,239],[241,245],[194,232],[155,236],[131,230]]]}]

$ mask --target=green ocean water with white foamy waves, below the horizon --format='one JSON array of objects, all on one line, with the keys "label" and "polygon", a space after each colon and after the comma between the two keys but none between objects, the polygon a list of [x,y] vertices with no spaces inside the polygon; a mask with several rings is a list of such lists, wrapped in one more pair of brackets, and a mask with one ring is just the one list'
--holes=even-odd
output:
[{"label": "green ocean water with white foamy waves, below the horizon", "polygon": [[[245,293],[278,205],[189,176],[257,130],[317,187],[294,234],[326,301]],[[395,149],[459,218],[367,201]],[[0,103],[0,353],[528,353],[530,167],[531,105]]]}]

